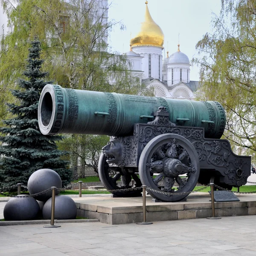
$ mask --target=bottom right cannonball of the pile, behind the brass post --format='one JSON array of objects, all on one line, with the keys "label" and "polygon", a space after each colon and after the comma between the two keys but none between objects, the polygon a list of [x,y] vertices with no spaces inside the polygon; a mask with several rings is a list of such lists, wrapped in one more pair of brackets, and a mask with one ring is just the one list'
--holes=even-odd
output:
[{"label": "bottom right cannonball of the pile, behind the brass post", "polygon": [[[49,198],[43,207],[44,219],[51,218],[52,198]],[[75,219],[77,214],[76,203],[67,195],[58,195],[55,197],[55,215],[58,220]]]}]

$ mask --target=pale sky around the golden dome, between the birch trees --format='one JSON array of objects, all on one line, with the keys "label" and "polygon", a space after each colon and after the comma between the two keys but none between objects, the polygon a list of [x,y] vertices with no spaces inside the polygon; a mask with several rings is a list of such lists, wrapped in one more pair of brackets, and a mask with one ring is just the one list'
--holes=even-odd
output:
[{"label": "pale sky around the golden dome, between the birch trees", "polygon": [[[145,0],[109,0],[108,19],[121,21],[124,30],[116,26],[109,33],[108,43],[112,51],[128,52],[130,39],[140,30],[144,21]],[[219,15],[221,0],[148,0],[153,20],[163,30],[163,55],[177,51],[185,53],[191,62],[197,55],[195,46],[203,35],[213,32],[212,18]],[[178,36],[178,34],[180,34]],[[199,68],[190,67],[190,80],[199,81]]]}]

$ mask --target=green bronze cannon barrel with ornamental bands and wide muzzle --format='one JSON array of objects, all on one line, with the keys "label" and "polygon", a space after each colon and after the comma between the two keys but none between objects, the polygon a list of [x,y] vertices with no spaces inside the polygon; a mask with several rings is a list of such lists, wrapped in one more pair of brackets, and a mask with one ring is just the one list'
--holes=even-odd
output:
[{"label": "green bronze cannon barrel with ornamental bands and wide muzzle", "polygon": [[42,134],[133,135],[135,123],[147,123],[159,107],[169,112],[171,122],[180,126],[203,127],[205,137],[220,138],[226,116],[218,102],[197,102],[119,93],[62,88],[47,84],[38,106]]}]

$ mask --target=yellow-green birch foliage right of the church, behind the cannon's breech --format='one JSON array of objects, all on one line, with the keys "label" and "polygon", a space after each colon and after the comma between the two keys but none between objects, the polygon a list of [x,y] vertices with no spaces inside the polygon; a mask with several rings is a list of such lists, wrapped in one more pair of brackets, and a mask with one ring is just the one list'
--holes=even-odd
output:
[{"label": "yellow-green birch foliage right of the church, behind the cannon's breech", "polygon": [[256,2],[222,0],[215,31],[198,42],[200,97],[224,106],[224,137],[242,154],[256,151]]}]

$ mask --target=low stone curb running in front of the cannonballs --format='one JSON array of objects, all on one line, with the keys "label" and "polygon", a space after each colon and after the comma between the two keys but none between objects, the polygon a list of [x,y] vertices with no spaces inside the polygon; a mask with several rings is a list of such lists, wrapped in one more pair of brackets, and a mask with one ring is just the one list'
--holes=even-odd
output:
[{"label": "low stone curb running in front of the cannonballs", "polygon": [[[54,223],[84,223],[99,222],[99,219],[78,219],[78,220],[54,220]],[[34,224],[50,224],[50,220],[32,220],[32,221],[0,221],[0,226],[13,225],[34,225]]]}]

